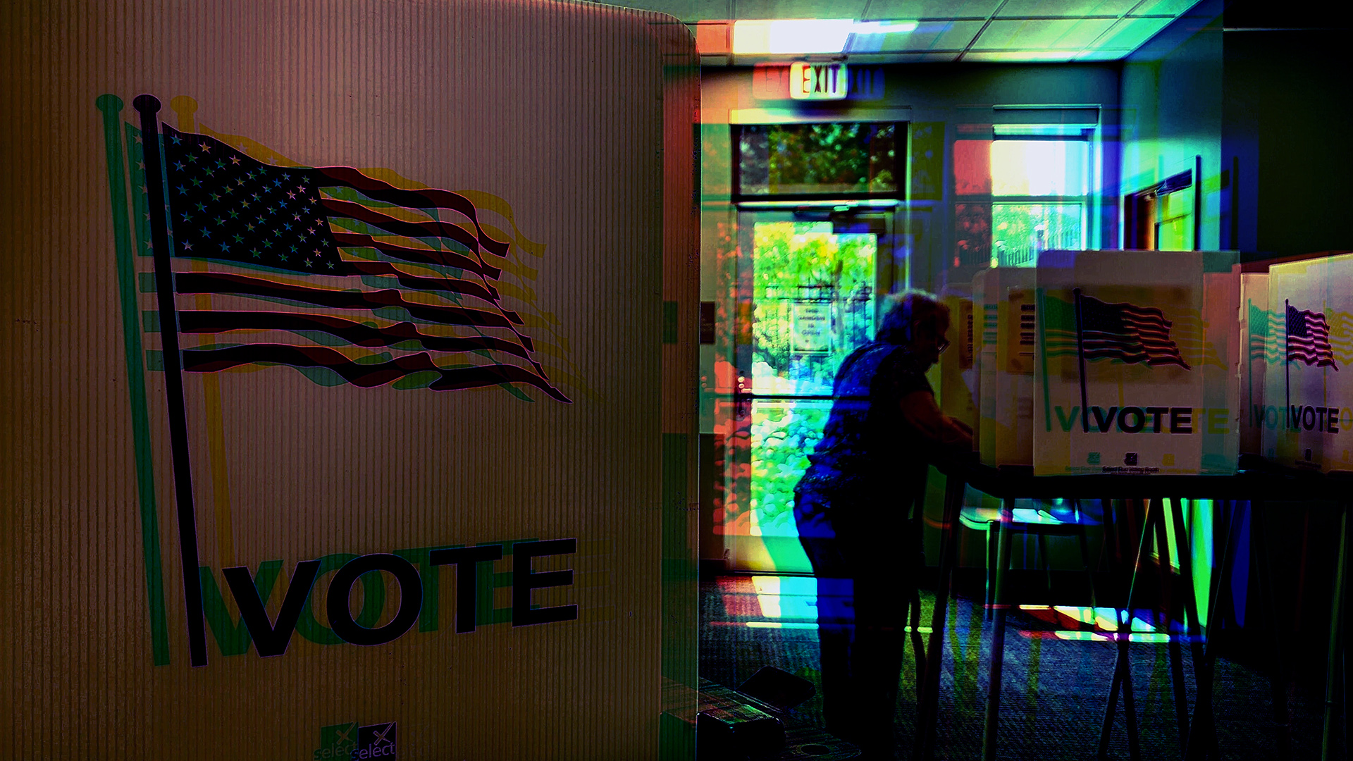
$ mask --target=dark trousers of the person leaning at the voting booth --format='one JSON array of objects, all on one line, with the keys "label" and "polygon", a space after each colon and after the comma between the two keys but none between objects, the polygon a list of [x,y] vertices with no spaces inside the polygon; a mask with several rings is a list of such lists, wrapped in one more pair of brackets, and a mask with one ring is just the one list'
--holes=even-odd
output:
[{"label": "dark trousers of the person leaning at the voting booth", "polygon": [[817,577],[823,714],[828,733],[870,757],[892,758],[919,546],[905,516],[851,519],[843,508],[878,510],[879,505],[829,508],[816,531],[800,535]]}]

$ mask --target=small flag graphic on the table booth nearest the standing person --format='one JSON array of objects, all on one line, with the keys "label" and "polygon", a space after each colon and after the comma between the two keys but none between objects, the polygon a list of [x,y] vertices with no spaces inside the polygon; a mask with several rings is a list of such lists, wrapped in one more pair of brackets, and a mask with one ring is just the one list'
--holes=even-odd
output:
[{"label": "small flag graphic on the table booth nearest the standing person", "polygon": [[1169,320],[1154,306],[1105,303],[1080,295],[1081,351],[1085,359],[1118,359],[1127,364],[1177,364],[1189,368],[1170,340]]}]

